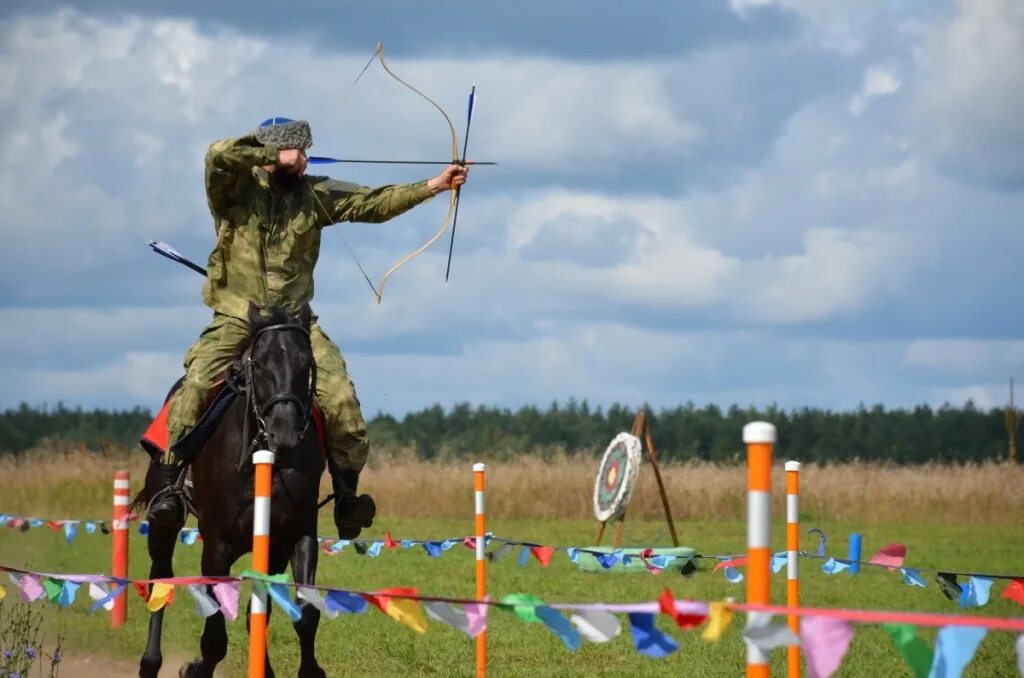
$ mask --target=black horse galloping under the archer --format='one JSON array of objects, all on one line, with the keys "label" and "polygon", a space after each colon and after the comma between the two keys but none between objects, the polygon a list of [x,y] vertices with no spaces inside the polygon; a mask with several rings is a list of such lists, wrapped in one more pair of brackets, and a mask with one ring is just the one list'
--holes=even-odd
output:
[{"label": "black horse galloping under the archer", "polygon": [[[188,503],[199,517],[203,537],[203,575],[229,575],[234,561],[252,550],[251,455],[265,446],[275,454],[270,574],[285,571],[291,562],[296,583],[315,583],[316,499],[325,462],[315,432],[310,433],[314,428],[311,417],[316,370],[309,322],[308,307],[297,317],[281,309],[261,313],[250,308],[250,343],[229,371],[226,386],[240,393],[190,469]],[[145,489],[136,501],[148,502],[160,486],[158,466],[152,463]],[[151,578],[174,576],[171,557],[176,541],[176,531],[150,526]],[[305,601],[300,606],[302,618],[294,625],[302,653],[299,676],[319,678],[327,675],[314,655],[319,611]],[[150,617],[150,638],[139,663],[140,676],[155,677],[160,671],[163,619],[163,609]],[[200,649],[202,656],[181,667],[179,676],[213,676],[214,667],[227,654],[227,631],[221,612],[207,618]],[[272,676],[269,655],[265,661],[266,675]]]}]

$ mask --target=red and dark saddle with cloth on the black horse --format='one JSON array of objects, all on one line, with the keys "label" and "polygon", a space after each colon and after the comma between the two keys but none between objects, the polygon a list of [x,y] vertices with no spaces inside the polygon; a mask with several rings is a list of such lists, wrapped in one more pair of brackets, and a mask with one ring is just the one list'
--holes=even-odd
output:
[{"label": "red and dark saddle with cloth on the black horse", "polygon": [[[182,381],[184,381],[183,377],[171,386],[171,390],[167,393],[167,399],[164,400],[164,407],[161,408],[157,417],[139,439],[139,443],[154,461],[161,461],[167,454],[167,448],[170,444],[170,433],[167,430],[168,411],[170,410],[171,397],[181,388]],[[217,430],[217,425],[220,423],[221,418],[223,418],[224,413],[227,412],[231,402],[239,395],[239,391],[231,386],[230,380],[223,379],[220,385],[210,394],[210,402],[203,416],[200,417],[199,422],[191,430],[185,433],[184,437],[174,443],[171,452],[188,464],[195,462],[207,440]],[[316,428],[316,439],[319,442],[321,454],[327,457],[327,434],[324,428],[324,414],[321,412],[318,405],[313,405],[312,420],[313,426]]]}]

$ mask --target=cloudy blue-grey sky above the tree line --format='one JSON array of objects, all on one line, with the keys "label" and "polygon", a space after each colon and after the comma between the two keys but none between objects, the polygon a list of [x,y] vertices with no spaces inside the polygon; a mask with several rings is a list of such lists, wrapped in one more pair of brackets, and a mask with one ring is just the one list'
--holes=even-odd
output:
[{"label": "cloudy blue-grey sky above the tree line", "polygon": [[[270,116],[443,160],[447,236],[378,305],[325,232],[314,310],[368,416],[568,397],[1001,405],[1024,380],[1019,0],[7,2],[0,407],[156,407],[210,320],[203,156]],[[416,167],[332,166],[370,185]],[[435,200],[337,230],[374,279]]]}]

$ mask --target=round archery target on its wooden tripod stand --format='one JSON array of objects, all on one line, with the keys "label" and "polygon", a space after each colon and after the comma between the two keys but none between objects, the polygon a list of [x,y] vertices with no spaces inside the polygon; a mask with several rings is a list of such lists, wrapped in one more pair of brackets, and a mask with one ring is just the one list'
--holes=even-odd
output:
[{"label": "round archery target on its wooden tripod stand", "polygon": [[608,523],[615,521],[615,534],[611,540],[612,549],[617,549],[623,539],[623,525],[626,522],[626,508],[633,496],[637,475],[640,473],[640,462],[643,451],[647,451],[647,459],[654,469],[654,479],[662,495],[662,506],[665,508],[665,519],[672,533],[672,545],[679,546],[676,535],[676,523],[672,520],[672,510],[669,508],[669,496],[665,492],[662,480],[662,469],[657,465],[657,452],[650,436],[650,427],[643,410],[637,413],[633,420],[633,428],[629,433],[620,433],[608,444],[601,459],[601,467],[594,483],[594,515],[601,522],[597,533],[596,546],[601,545],[604,531]]}]

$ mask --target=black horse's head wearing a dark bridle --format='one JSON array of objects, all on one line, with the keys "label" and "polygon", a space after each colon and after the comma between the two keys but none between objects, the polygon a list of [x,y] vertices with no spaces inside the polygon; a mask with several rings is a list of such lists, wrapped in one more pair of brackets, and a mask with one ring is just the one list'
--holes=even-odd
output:
[{"label": "black horse's head wearing a dark bridle", "polygon": [[296,448],[309,425],[316,390],[310,315],[309,306],[297,316],[249,307],[251,343],[243,368],[257,426],[271,451]]}]

